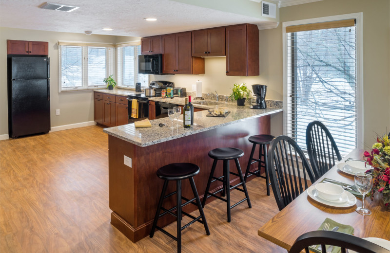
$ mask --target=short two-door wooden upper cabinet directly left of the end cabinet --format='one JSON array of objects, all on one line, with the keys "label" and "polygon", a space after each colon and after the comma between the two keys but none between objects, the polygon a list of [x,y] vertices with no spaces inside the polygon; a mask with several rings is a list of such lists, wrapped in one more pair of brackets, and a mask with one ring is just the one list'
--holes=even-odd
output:
[{"label": "short two-door wooden upper cabinet directly left of the end cabinet", "polygon": [[225,55],[225,27],[192,32],[192,56]]}]

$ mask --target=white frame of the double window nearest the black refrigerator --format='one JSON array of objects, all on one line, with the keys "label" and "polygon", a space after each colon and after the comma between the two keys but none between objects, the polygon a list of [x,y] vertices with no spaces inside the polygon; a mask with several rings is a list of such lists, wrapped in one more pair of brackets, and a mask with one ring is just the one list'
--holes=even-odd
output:
[{"label": "white frame of the double window nearest the black refrigerator", "polygon": [[[71,47],[81,47],[81,87],[72,87],[72,88],[63,88],[62,87],[62,47],[71,46]],[[114,73],[115,69],[115,47],[112,43],[93,43],[93,42],[77,42],[77,41],[59,41],[58,45],[59,51],[59,93],[61,92],[71,92],[71,91],[80,91],[80,90],[95,90],[106,88],[107,86],[103,83],[101,85],[88,85],[88,48],[105,48],[106,49],[106,77]]]}]

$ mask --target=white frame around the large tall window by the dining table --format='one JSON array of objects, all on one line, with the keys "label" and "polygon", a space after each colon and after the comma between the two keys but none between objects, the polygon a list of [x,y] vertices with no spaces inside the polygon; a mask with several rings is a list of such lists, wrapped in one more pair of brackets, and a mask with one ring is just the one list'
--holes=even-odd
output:
[{"label": "white frame around the large tall window by the dining table", "polygon": [[288,113],[288,46],[286,27],[292,25],[303,25],[310,23],[328,22],[343,19],[356,19],[356,145],[363,148],[364,114],[363,114],[363,13],[351,13],[322,18],[310,18],[295,21],[287,21],[282,24],[283,36],[283,134],[288,135],[289,113]]}]

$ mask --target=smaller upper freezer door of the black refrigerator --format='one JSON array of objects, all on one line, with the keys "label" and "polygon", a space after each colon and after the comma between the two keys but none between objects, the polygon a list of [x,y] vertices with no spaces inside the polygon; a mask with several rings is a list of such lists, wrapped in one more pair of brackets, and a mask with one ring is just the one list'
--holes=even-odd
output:
[{"label": "smaller upper freezer door of the black refrigerator", "polygon": [[11,57],[11,79],[49,78],[49,57]]}]

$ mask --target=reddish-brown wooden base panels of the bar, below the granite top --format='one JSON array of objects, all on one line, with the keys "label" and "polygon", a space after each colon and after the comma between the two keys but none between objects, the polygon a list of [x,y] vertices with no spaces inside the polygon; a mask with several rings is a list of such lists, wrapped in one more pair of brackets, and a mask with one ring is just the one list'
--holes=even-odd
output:
[{"label": "reddish-brown wooden base panels of the bar, below the granite top", "polygon": [[[202,198],[213,163],[208,152],[217,147],[241,148],[245,155],[239,162],[245,173],[252,148],[248,138],[255,134],[270,134],[270,115],[146,147],[109,135],[109,197],[110,209],[113,211],[111,223],[133,242],[147,236],[163,184],[163,180],[156,176],[159,167],[169,163],[197,164],[200,172],[194,180]],[[124,155],[132,159],[131,168],[123,164]],[[231,171],[236,172],[235,164],[230,164]],[[222,162],[217,164],[216,175],[222,175]],[[236,177],[231,175],[230,179],[232,182]],[[182,182],[182,195],[193,198],[188,180]],[[211,189],[220,187],[220,182],[214,182]],[[168,185],[167,192],[174,190],[175,183],[172,182]],[[214,198],[208,199],[212,200]],[[175,196],[164,202],[164,206],[168,208],[174,205]],[[195,206],[188,205],[184,211],[192,212],[195,209]],[[174,220],[175,217],[165,216],[158,224],[163,226]]]}]

